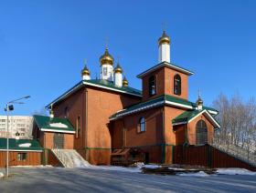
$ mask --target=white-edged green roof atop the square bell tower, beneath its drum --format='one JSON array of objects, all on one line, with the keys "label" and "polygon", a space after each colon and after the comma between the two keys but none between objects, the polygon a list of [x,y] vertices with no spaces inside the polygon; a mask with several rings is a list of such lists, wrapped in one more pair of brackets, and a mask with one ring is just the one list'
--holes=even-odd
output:
[{"label": "white-edged green roof atop the square bell tower, beneath its drum", "polygon": [[188,76],[194,75],[194,72],[192,72],[192,71],[190,71],[190,70],[188,70],[188,69],[186,69],[184,67],[177,66],[177,65],[174,65],[174,64],[168,63],[168,62],[162,62],[162,63],[159,63],[159,64],[157,64],[157,65],[155,65],[155,66],[145,70],[143,73],[139,74],[137,77],[138,78],[142,78],[143,76],[145,76],[145,75],[147,75],[147,74],[149,74],[151,72],[154,72],[155,70],[157,70],[157,69],[159,69],[160,67],[163,67],[163,66],[171,68],[171,69],[175,69],[176,71],[184,73],[184,74],[186,74]]}]

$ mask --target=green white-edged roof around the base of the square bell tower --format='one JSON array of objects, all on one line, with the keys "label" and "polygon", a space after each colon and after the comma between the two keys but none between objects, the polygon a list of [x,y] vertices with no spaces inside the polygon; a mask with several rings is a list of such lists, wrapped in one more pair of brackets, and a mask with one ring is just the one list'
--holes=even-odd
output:
[{"label": "green white-edged roof around the base of the square bell tower", "polygon": [[[191,110],[193,109],[193,111],[197,107],[196,103],[192,103],[192,102],[190,102],[186,99],[178,98],[176,96],[162,95],[162,96],[155,97],[151,100],[135,104],[131,107],[127,107],[127,108],[125,108],[121,111],[118,111],[117,113],[113,114],[112,117],[110,117],[110,119],[114,119],[114,118],[117,118],[117,117],[122,117],[122,116],[127,115],[127,114],[132,114],[133,112],[136,112],[136,111],[139,111],[139,110],[144,110],[146,107],[148,107],[148,108],[149,107],[159,107],[161,105],[164,105],[165,103],[168,104],[168,102],[173,104],[173,105],[180,106],[180,107],[184,106],[184,107],[190,108]],[[214,108],[203,107],[203,110],[204,109],[211,110],[211,111],[214,111],[214,112],[218,113],[218,111]],[[188,112],[190,112],[190,111],[188,111]]]}]

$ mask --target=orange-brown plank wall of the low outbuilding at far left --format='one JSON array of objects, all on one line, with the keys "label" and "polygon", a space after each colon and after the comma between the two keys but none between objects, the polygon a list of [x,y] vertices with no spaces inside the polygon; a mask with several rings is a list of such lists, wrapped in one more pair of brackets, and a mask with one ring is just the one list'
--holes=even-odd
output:
[{"label": "orange-brown plank wall of the low outbuilding at far left", "polygon": [[[38,166],[41,165],[41,152],[24,152],[27,153],[26,161],[18,161],[17,154],[23,152],[9,152],[9,166]],[[0,168],[5,168],[6,152],[0,151]]]}]

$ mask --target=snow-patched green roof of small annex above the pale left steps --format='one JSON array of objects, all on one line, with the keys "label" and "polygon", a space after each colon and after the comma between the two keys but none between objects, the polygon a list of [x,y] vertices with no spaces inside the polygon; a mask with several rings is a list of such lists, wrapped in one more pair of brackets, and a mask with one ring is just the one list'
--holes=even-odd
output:
[{"label": "snow-patched green roof of small annex above the pale left steps", "polygon": [[40,130],[62,132],[62,133],[75,133],[74,127],[71,125],[67,118],[60,117],[46,117],[46,116],[34,116],[37,127]]}]

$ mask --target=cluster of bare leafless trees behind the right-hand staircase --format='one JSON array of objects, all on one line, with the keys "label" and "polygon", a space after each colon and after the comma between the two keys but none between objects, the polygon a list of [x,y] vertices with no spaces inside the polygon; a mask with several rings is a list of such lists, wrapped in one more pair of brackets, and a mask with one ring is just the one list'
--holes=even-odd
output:
[{"label": "cluster of bare leafless trees behind the right-hand staircase", "polygon": [[256,103],[254,98],[244,102],[240,95],[220,94],[213,102],[219,110],[221,128],[215,134],[219,144],[243,147],[250,152],[256,150]]}]

